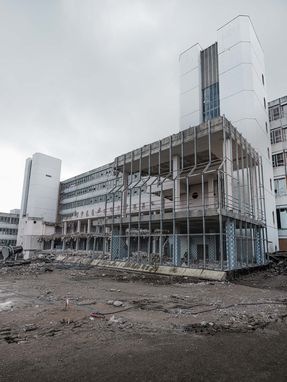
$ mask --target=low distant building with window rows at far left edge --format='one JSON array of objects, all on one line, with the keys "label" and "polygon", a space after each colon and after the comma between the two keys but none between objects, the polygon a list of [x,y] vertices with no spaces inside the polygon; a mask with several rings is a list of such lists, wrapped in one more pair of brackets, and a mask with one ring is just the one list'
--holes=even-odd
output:
[{"label": "low distant building with window rows at far left edge", "polygon": [[17,242],[20,210],[10,210],[10,213],[0,212],[0,249]]}]

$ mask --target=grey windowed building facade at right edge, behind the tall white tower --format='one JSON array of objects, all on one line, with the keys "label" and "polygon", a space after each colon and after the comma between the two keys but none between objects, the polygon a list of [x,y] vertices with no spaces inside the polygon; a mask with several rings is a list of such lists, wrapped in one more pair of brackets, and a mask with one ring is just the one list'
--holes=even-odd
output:
[{"label": "grey windowed building facade at right edge, behind the tall white tower", "polygon": [[[287,249],[287,96],[268,102],[279,247]],[[277,249],[277,248],[276,248]]]}]

